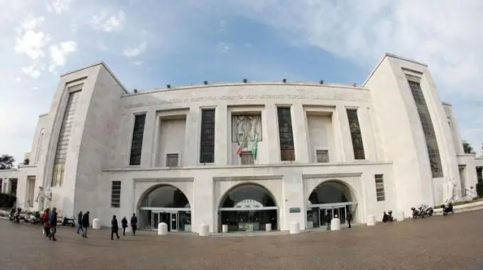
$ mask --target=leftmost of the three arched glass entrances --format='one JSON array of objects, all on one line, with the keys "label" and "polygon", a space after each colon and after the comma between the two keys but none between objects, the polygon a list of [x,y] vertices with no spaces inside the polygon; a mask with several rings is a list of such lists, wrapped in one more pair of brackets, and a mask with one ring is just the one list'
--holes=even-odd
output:
[{"label": "leftmost of the three arched glass entrances", "polygon": [[160,185],[146,192],[139,202],[140,223],[146,229],[158,229],[165,222],[170,232],[191,232],[190,202],[172,185]]}]

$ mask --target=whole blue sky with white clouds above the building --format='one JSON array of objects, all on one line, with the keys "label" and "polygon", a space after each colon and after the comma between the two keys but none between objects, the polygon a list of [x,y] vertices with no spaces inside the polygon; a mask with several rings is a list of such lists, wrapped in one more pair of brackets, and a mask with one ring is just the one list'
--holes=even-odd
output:
[{"label": "whole blue sky with white clouds above the building", "polygon": [[428,63],[483,141],[483,1],[0,0],[0,153],[31,150],[58,76],[104,61],[130,90],[249,80],[362,83],[385,52]]}]

